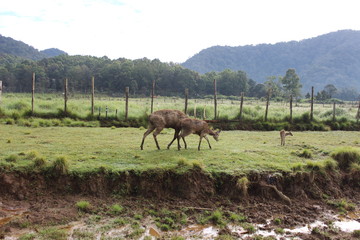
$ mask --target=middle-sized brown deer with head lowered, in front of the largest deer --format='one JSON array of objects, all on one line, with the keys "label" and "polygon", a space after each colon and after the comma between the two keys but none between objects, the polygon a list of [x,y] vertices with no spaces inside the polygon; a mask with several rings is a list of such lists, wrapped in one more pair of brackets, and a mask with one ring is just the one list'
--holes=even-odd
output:
[{"label": "middle-sized brown deer with head lowered, in front of the largest deer", "polygon": [[220,132],[221,131],[214,132],[213,130],[211,130],[209,128],[208,123],[203,120],[185,118],[185,119],[181,120],[181,132],[178,135],[178,150],[180,150],[180,137],[183,139],[184,144],[185,144],[185,149],[186,149],[187,145],[185,142],[185,137],[190,135],[191,133],[194,133],[194,134],[197,134],[200,136],[199,146],[198,146],[199,151],[200,151],[200,145],[201,145],[202,138],[206,139],[206,141],[209,144],[209,148],[211,149],[209,139],[207,138],[206,135],[209,134],[209,135],[213,136],[216,141],[218,141]]}]

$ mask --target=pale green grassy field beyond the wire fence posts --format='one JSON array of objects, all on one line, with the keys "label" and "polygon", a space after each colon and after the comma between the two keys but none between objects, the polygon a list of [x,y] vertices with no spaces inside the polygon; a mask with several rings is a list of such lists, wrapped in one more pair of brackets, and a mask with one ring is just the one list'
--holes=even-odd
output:
[{"label": "pale green grassy field beyond the wire fence posts", "polygon": [[[234,100],[218,100],[218,116],[222,119],[236,119],[240,111],[240,101],[237,97]],[[185,100],[172,97],[157,97],[154,99],[154,111],[159,109],[178,109],[184,110]],[[57,113],[58,110],[64,109],[64,99],[61,94],[36,94],[34,111],[40,114]],[[68,111],[80,118],[86,118],[91,112],[90,95],[70,95],[68,97]],[[265,101],[245,99],[243,117],[247,119],[262,119],[265,115]],[[358,109],[357,102],[346,102],[336,105],[336,117],[346,118],[355,121]],[[0,108],[6,116],[22,115],[31,110],[31,94],[6,93],[2,95]],[[108,109],[109,117],[117,117],[120,120],[125,115],[125,100],[120,97],[108,97],[97,95],[95,98],[95,115],[99,111],[101,117],[105,117]],[[206,119],[214,118],[213,99],[189,99],[188,114],[193,116],[194,109],[199,118],[203,117],[205,109]],[[310,112],[309,103],[293,103],[293,117],[300,117],[302,114]],[[314,118],[325,121],[332,119],[332,104],[315,104]],[[116,115],[117,113],[117,115]],[[139,118],[150,113],[150,98],[130,98],[129,99],[129,117]],[[14,115],[15,114],[15,115]],[[270,102],[268,119],[283,120],[290,115],[288,102]]]}]

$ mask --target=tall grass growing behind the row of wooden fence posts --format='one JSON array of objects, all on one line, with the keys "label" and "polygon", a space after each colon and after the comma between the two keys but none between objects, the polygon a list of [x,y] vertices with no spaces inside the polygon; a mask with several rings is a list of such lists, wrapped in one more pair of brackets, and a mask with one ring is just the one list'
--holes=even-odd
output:
[{"label": "tall grass growing behind the row of wooden fence posts", "polygon": [[[231,99],[231,100],[230,100]],[[218,119],[239,119],[240,101],[237,98],[218,99]],[[150,98],[130,98],[128,118],[135,121],[150,114]],[[160,109],[184,110],[184,99],[175,97],[157,97],[154,100],[154,111]],[[246,99],[243,105],[242,119],[252,122],[263,122],[265,115],[265,101]],[[332,122],[332,104],[315,104],[314,121],[328,122],[333,129],[346,129],[355,122],[357,103],[346,102],[338,104],[336,122]],[[196,109],[196,112],[194,110]],[[121,97],[97,96],[95,98],[95,113],[91,116],[90,95],[70,95],[67,102],[67,113],[64,113],[64,99],[61,94],[36,94],[34,113],[31,111],[31,95],[5,93],[0,105],[0,117],[18,121],[22,118],[38,117],[58,119],[69,117],[77,120],[115,120],[125,119],[125,99]],[[205,113],[205,114],[204,114]],[[210,98],[189,99],[187,114],[197,118],[213,119],[215,116],[214,102]],[[289,122],[289,104],[287,102],[270,102],[268,122]],[[142,122],[142,120],[140,120]],[[293,105],[293,122],[298,124],[310,123],[310,103],[298,102]],[[146,124],[145,124],[146,125]],[[310,130],[320,127],[313,127]],[[308,129],[308,126],[306,127]]]}]

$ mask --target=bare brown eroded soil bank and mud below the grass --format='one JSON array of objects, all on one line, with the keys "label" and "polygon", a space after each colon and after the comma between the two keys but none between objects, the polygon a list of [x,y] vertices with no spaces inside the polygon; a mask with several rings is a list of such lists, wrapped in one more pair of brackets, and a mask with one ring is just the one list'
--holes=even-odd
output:
[{"label": "bare brown eroded soil bank and mud below the grass", "polygon": [[[360,206],[360,174],[345,172],[250,173],[243,176],[210,174],[195,168],[173,171],[98,172],[79,175],[0,172],[0,239],[27,226],[58,225],[79,220],[75,203],[91,203],[92,214],[102,214],[114,203],[132,212],[144,209],[240,211],[247,221],[267,228],[291,228],[328,221],[336,213],[326,199],[346,199]],[[129,212],[129,214],[131,214]],[[192,217],[189,216],[191,219]],[[280,218],[281,223],[274,221]],[[360,219],[355,219],[359,221]],[[25,226],[26,227],[26,226]],[[234,235],[226,228],[219,234]],[[297,234],[300,239],[357,239],[350,233]],[[235,238],[242,236],[236,235]],[[249,238],[252,239],[252,238]]]}]

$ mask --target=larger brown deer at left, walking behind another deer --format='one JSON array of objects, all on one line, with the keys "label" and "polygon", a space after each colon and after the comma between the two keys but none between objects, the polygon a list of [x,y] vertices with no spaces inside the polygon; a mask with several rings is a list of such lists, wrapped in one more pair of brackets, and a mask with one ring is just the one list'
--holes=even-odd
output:
[{"label": "larger brown deer at left, walking behind another deer", "polygon": [[[141,146],[140,146],[141,150],[143,150],[145,138],[155,129],[156,130],[153,133],[153,136],[154,136],[154,140],[156,143],[156,147],[160,150],[160,146],[156,139],[156,136],[164,128],[173,128],[173,129],[175,129],[175,134],[174,134],[173,140],[167,146],[167,148],[169,149],[171,144],[175,141],[175,139],[178,139],[178,135],[181,130],[180,121],[185,118],[188,118],[188,116],[179,110],[164,109],[164,110],[159,110],[159,111],[156,111],[156,112],[153,112],[152,114],[150,114],[149,115],[149,127],[148,127],[147,131],[144,133],[144,136],[143,136],[143,139],[141,142]],[[179,141],[179,139],[178,139],[178,141]],[[183,140],[183,141],[185,143],[185,140]],[[178,142],[178,145],[180,145],[179,142]],[[185,145],[186,145],[186,143],[185,143]]]}]

